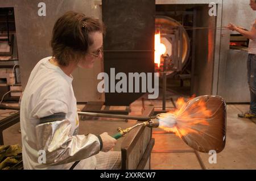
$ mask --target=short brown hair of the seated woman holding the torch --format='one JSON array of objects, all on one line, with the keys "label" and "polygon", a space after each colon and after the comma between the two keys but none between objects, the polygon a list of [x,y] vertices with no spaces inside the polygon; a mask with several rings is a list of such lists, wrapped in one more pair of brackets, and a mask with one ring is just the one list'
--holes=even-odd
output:
[{"label": "short brown hair of the seated woman holding the torch", "polygon": [[86,17],[82,13],[68,11],[57,19],[52,30],[52,56],[61,66],[68,66],[70,61],[78,62],[85,57],[92,40],[89,33],[100,31],[105,34],[105,27],[98,19]]}]

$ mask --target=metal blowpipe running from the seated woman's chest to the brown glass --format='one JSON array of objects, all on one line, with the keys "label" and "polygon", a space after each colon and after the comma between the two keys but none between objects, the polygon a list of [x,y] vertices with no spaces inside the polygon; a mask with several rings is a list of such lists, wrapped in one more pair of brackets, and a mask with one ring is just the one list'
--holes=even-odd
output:
[{"label": "metal blowpipe running from the seated woman's chest to the brown glass", "polygon": [[151,119],[151,117],[148,117],[148,116],[114,115],[114,114],[108,114],[108,113],[95,113],[95,112],[77,112],[77,113],[79,115],[85,115],[85,116],[133,119],[133,120],[138,120],[138,121],[147,121],[147,120]]}]

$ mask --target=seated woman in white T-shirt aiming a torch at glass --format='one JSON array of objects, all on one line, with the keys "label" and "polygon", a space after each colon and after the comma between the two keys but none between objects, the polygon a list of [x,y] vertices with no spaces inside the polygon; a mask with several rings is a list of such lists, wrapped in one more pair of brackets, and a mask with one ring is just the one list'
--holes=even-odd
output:
[{"label": "seated woman in white T-shirt aiming a torch at glass", "polygon": [[56,21],[53,56],[36,64],[20,105],[24,169],[69,169],[81,159],[75,169],[121,167],[119,151],[109,151],[117,140],[108,133],[77,135],[71,73],[78,67],[92,68],[102,58],[103,34],[102,23],[77,12],[69,11]]}]

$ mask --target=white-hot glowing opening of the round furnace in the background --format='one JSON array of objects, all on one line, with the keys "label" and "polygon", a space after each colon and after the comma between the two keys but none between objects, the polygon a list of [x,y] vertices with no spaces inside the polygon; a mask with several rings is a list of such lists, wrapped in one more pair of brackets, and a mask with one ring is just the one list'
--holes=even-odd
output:
[{"label": "white-hot glowing opening of the round furnace in the background", "polygon": [[160,66],[162,54],[166,53],[166,46],[160,43],[160,32],[155,34],[155,64]]}]

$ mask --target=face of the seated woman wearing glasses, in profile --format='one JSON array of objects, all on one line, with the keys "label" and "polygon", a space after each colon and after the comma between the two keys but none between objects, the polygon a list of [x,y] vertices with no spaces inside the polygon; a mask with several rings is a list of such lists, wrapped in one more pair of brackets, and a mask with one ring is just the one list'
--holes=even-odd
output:
[{"label": "face of the seated woman wearing glasses, in profile", "polygon": [[85,56],[84,60],[78,62],[77,66],[80,68],[93,68],[94,61],[97,59],[102,58],[102,43],[103,43],[103,36],[102,32],[96,31],[89,33],[89,38],[93,41],[93,44],[90,45],[88,49],[88,53]]}]

